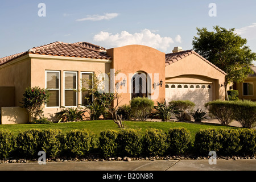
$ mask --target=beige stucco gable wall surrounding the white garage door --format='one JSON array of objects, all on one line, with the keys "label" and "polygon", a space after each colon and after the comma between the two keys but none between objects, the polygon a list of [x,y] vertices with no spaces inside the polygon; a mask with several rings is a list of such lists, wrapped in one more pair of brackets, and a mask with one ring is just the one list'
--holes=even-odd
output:
[{"label": "beige stucco gable wall surrounding the white garage door", "polygon": [[167,82],[211,83],[213,100],[225,100],[225,75],[197,55],[189,55],[166,67]]}]

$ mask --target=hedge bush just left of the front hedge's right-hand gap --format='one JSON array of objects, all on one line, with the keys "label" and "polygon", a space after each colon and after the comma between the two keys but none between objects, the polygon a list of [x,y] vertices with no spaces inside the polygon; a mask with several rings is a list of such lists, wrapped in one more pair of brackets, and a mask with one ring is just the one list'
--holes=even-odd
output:
[{"label": "hedge bush just left of the front hedge's right-hand gap", "polygon": [[185,154],[191,147],[192,137],[185,128],[170,129],[167,134],[167,143],[171,154]]}]

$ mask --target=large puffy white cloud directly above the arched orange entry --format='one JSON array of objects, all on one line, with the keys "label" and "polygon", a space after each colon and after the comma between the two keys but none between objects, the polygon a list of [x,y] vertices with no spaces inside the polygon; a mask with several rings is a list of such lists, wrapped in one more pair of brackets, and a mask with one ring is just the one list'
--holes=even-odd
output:
[{"label": "large puffy white cloud directly above the arched orange entry", "polygon": [[167,51],[170,44],[174,43],[172,38],[161,37],[159,34],[154,34],[148,29],[144,29],[135,34],[122,31],[120,34],[115,35],[101,31],[99,34],[94,35],[93,39],[97,42],[105,42],[109,46],[122,47],[131,44],[139,44],[153,47],[155,49],[161,49],[162,51]]}]

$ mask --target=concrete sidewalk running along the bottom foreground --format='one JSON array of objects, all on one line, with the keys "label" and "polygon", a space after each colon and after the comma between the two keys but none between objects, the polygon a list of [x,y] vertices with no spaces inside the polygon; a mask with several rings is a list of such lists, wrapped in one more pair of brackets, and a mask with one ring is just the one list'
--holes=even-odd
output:
[{"label": "concrete sidewalk running along the bottom foreground", "polygon": [[256,160],[7,163],[0,164],[0,171],[256,171]]}]

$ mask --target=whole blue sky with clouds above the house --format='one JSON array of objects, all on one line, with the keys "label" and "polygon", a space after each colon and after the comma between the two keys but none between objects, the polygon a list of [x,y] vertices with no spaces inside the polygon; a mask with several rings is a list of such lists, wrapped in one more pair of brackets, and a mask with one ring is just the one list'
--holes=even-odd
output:
[{"label": "whole blue sky with clouds above the house", "polygon": [[[46,5],[40,17],[39,3]],[[209,16],[210,3],[216,15]],[[196,27],[236,28],[256,52],[255,0],[1,0],[0,57],[61,41],[106,48],[144,44],[169,53],[192,49]]]}]

